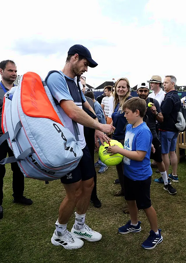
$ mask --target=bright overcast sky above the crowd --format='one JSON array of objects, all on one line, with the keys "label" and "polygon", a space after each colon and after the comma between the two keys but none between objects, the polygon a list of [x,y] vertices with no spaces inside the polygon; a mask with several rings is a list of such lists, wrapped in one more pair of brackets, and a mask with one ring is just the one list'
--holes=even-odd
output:
[{"label": "bright overcast sky above the crowd", "polygon": [[185,0],[9,0],[0,6],[0,60],[13,59],[19,75],[34,71],[45,78],[81,44],[98,63],[84,73],[93,87],[120,77],[133,87],[166,74],[186,85]]}]

